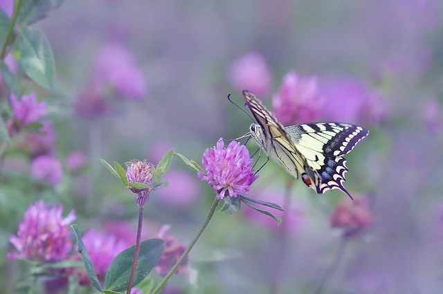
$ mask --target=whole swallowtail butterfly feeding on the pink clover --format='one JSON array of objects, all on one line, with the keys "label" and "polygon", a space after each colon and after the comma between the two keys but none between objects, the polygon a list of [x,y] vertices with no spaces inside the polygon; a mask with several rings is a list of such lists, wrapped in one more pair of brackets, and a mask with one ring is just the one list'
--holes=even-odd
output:
[{"label": "whole swallowtail butterfly feeding on the pink clover", "polygon": [[352,199],[343,187],[348,171],[343,156],[368,136],[367,129],[343,122],[284,127],[253,93],[247,90],[242,93],[255,118],[249,134],[268,160],[273,158],[294,178],[301,175],[303,183],[318,194],[339,189]]}]

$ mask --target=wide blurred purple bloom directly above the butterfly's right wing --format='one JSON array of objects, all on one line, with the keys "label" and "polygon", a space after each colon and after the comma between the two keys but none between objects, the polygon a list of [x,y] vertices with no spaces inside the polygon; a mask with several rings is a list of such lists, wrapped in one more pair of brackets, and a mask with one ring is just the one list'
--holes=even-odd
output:
[{"label": "wide blurred purple bloom directly above the butterfly's right wing", "polygon": [[327,120],[365,124],[381,122],[386,116],[385,102],[363,80],[330,78],[323,82],[322,93]]}]

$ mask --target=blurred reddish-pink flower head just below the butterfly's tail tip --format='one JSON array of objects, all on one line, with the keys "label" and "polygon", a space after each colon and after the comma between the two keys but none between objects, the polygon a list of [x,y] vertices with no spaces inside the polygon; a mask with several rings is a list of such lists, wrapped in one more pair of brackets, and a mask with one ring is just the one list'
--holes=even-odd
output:
[{"label": "blurred reddish-pink flower head just below the butterfly's tail tip", "polygon": [[368,228],[372,223],[368,199],[364,196],[354,196],[343,199],[334,208],[330,223],[332,228],[342,228],[346,234],[352,234]]}]

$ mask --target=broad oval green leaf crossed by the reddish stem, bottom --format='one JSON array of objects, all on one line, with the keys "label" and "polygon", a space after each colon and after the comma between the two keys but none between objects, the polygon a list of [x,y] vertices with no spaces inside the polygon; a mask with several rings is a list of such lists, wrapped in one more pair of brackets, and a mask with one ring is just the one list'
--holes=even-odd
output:
[{"label": "broad oval green leaf crossed by the reddish stem, bottom", "polygon": [[[141,242],[134,286],[140,283],[151,272],[152,268],[160,260],[165,241],[162,239],[149,239]],[[112,261],[105,277],[105,288],[112,291],[123,291],[127,288],[129,275],[131,275],[132,261],[134,259],[135,246],[120,252]]]}]

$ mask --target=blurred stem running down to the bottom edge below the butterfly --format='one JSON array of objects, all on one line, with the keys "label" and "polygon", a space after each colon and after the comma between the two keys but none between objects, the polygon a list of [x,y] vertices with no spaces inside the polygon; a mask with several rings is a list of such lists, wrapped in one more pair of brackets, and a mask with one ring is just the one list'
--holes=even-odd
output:
[{"label": "blurred stem running down to the bottom edge below the butterfly", "polygon": [[286,185],[286,193],[284,194],[284,203],[283,203],[283,216],[282,216],[282,225],[280,230],[278,230],[278,250],[277,257],[275,262],[275,270],[273,271],[273,276],[271,280],[271,291],[269,293],[276,294],[279,292],[278,286],[280,285],[280,275],[282,273],[282,268],[284,266],[284,259],[286,258],[286,248],[287,248],[287,228],[288,228],[288,214],[290,213],[290,205],[291,205],[291,191],[293,187],[294,181],[291,179],[287,181]]}]

